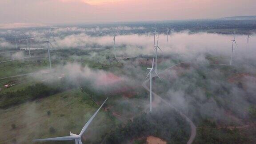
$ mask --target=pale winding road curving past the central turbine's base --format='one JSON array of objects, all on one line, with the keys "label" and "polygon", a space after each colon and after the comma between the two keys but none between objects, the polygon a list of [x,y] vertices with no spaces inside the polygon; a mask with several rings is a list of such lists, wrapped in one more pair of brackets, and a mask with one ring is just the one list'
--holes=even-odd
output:
[{"label": "pale winding road curving past the central turbine's base", "polygon": [[[158,75],[166,72],[167,70],[169,69],[172,69],[180,64],[184,64],[184,63],[187,63],[187,62],[182,62],[182,63],[179,63],[179,64],[175,64],[173,65],[172,67],[170,68],[167,68],[165,69],[164,71],[158,73]],[[152,76],[152,78],[156,77],[156,75]],[[150,92],[148,86],[147,86],[147,82],[149,81],[149,79],[145,80],[144,83],[142,84],[142,86],[148,91]],[[176,112],[178,112],[181,116],[183,116],[185,118],[185,120],[189,123],[190,125],[190,128],[191,128],[191,134],[190,134],[190,138],[187,142],[187,144],[192,144],[192,142],[194,141],[195,137],[196,137],[196,126],[195,124],[192,122],[192,120],[190,120],[188,118],[188,116],[186,116],[184,113],[182,113],[181,111],[179,111],[177,108],[173,107],[172,104],[168,103],[166,100],[164,100],[162,97],[160,97],[159,95],[157,95],[155,92],[152,92],[153,96],[154,96],[154,101],[158,100],[158,101],[162,101],[164,102],[164,104],[167,104],[168,106],[170,106],[171,108],[175,109]]]}]

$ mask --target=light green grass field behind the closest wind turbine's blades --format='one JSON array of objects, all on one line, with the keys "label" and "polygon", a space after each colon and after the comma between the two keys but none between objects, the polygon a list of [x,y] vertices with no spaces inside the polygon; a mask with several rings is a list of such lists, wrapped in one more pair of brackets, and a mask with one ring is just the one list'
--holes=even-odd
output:
[{"label": "light green grass field behind the closest wind turbine's blades", "polygon": [[[1,109],[0,133],[5,135],[0,135],[0,140],[3,144],[15,140],[20,144],[28,144],[32,139],[68,136],[69,131],[79,134],[96,109],[96,104],[80,92],[80,89],[72,89],[5,110]],[[16,125],[15,129],[12,128],[12,124]],[[101,110],[85,132],[84,138],[99,140],[93,137],[94,133],[101,136],[113,125],[115,125],[113,117]],[[56,132],[49,132],[51,127]]]}]

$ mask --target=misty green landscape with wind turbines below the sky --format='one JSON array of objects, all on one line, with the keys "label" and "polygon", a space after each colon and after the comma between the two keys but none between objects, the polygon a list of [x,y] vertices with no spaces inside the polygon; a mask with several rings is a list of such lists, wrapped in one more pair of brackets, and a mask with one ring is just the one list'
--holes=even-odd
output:
[{"label": "misty green landscape with wind turbines below the sky", "polygon": [[0,144],[255,144],[255,120],[256,16],[0,23]]}]

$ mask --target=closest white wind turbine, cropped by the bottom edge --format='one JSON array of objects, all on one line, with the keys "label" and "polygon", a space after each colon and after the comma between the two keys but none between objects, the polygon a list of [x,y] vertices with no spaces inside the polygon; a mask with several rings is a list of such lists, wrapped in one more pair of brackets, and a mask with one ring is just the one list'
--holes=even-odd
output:
[{"label": "closest white wind turbine, cropped by the bottom edge", "polygon": [[[101,104],[100,108],[105,104],[105,102],[108,100],[108,98],[104,101],[103,104]],[[37,139],[37,140],[33,140],[33,141],[51,141],[51,140],[57,140],[57,141],[64,141],[64,140],[75,140],[76,144],[83,144],[81,141],[82,135],[84,134],[84,132],[86,131],[86,129],[88,128],[89,124],[91,124],[92,120],[94,119],[94,117],[97,115],[97,113],[100,111],[100,108],[94,113],[94,115],[87,121],[87,123],[84,125],[84,128],[82,128],[81,132],[79,135],[73,134],[71,132],[70,136],[63,136],[63,137],[55,137],[55,138],[48,138],[48,139]]]}]

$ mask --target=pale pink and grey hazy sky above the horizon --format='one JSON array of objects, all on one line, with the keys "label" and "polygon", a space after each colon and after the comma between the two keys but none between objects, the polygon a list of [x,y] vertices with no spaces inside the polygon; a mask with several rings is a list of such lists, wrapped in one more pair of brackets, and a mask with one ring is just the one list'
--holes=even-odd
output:
[{"label": "pale pink and grey hazy sky above the horizon", "polygon": [[256,15],[256,0],[0,0],[0,24],[77,24]]}]

